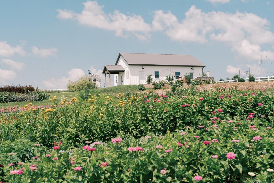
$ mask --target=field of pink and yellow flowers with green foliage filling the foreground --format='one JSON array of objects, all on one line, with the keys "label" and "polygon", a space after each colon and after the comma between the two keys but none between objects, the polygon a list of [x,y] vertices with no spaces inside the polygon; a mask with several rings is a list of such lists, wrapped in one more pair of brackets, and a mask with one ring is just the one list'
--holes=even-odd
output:
[{"label": "field of pink and yellow flowers with green foliage filling the foreground", "polygon": [[0,119],[1,182],[274,182],[274,95],[56,98]]}]

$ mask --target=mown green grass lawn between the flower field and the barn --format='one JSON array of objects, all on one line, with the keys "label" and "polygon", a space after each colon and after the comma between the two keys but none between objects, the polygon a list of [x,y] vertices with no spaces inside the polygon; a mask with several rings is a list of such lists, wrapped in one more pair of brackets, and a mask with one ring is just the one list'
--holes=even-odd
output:
[{"label": "mown green grass lawn between the flower field and the barn", "polygon": [[[93,94],[95,92],[99,92],[101,94],[101,97],[106,96],[113,96],[113,93],[119,94],[119,93],[126,93],[133,91],[137,91],[137,85],[119,85],[119,86],[113,86],[108,88],[101,88],[101,89],[92,89],[90,90],[90,94]],[[71,99],[73,97],[77,97],[79,95],[79,92],[59,92],[59,93],[48,93],[50,95],[49,99],[52,99],[54,96],[56,96],[56,100],[61,102],[63,98]],[[31,102],[33,106],[46,106],[47,104],[51,104],[51,102],[47,100],[43,101],[35,101]],[[9,103],[0,103],[0,108],[7,108],[12,106],[18,106],[18,107],[24,107],[25,105],[29,104],[29,102],[9,102]]]}]

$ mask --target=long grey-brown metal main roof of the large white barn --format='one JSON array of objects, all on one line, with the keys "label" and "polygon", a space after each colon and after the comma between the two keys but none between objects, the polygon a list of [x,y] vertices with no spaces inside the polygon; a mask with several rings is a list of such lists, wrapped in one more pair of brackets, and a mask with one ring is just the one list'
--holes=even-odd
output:
[{"label": "long grey-brown metal main roof of the large white barn", "polygon": [[119,53],[115,65],[122,56],[128,65],[171,65],[171,66],[200,66],[202,62],[192,55],[152,54],[152,53]]}]

